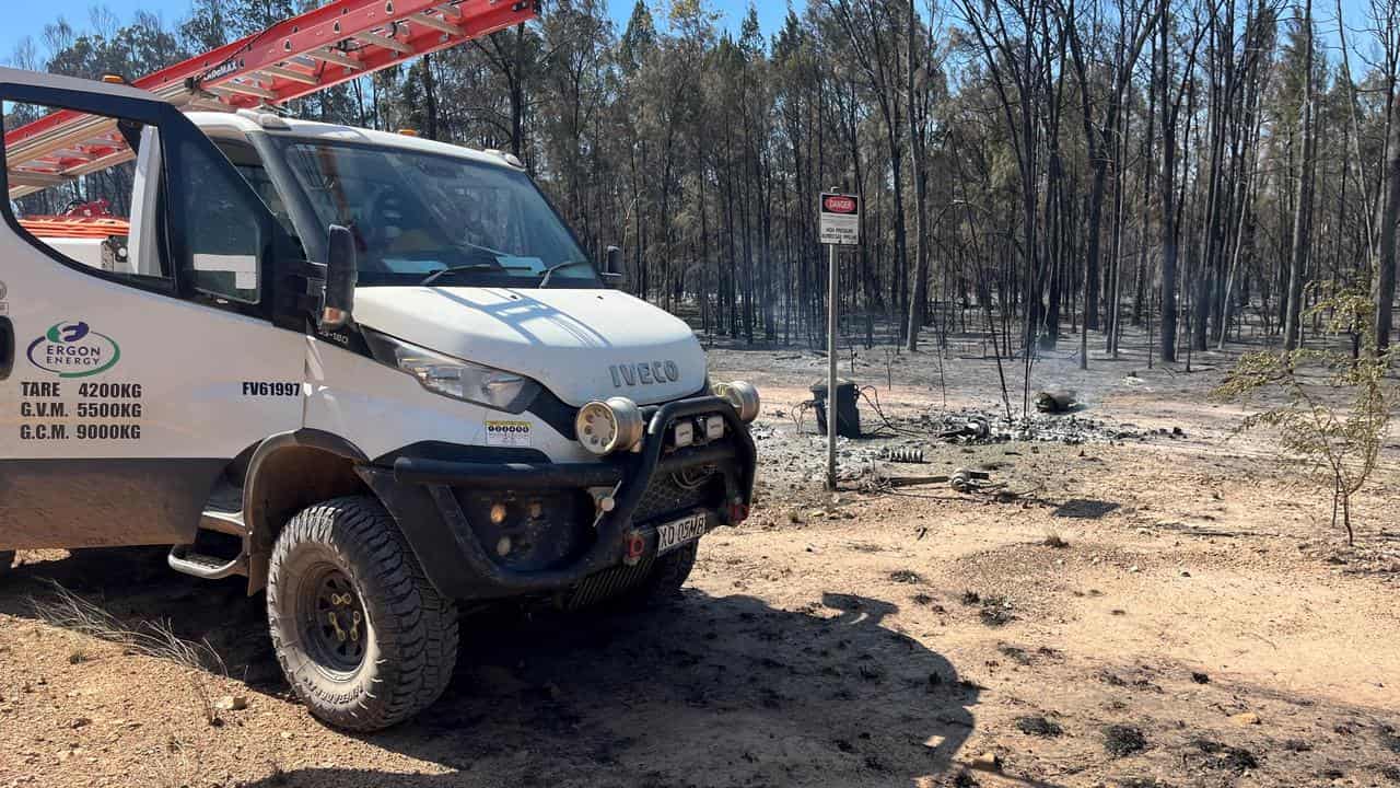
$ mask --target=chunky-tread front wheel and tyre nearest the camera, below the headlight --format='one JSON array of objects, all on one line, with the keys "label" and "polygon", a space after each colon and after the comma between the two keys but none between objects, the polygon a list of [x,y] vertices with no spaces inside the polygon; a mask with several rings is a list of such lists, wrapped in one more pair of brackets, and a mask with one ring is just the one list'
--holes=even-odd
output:
[{"label": "chunky-tread front wheel and tyre nearest the camera, below the headlight", "polygon": [[433,705],[456,663],[456,606],[372,498],[318,503],[287,523],[267,566],[267,625],[293,690],[346,731],[382,731]]}]

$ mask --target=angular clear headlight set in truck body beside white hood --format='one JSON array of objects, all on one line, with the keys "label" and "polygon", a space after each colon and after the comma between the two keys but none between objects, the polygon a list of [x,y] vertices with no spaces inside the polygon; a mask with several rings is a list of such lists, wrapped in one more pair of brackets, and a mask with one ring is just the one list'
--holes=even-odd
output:
[{"label": "angular clear headlight set in truck body beside white hood", "polygon": [[388,362],[389,359],[384,356],[392,353],[395,366],[416,377],[424,388],[434,394],[519,414],[539,393],[538,383],[514,372],[434,353],[382,334],[371,337],[372,344],[378,345],[375,355],[381,360]]}]

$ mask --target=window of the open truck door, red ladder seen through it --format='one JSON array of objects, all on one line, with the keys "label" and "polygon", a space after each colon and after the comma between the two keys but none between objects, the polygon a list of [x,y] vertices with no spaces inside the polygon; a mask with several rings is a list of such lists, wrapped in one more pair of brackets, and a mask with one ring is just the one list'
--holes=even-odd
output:
[{"label": "window of the open truck door, red ladder seen through it", "polygon": [[267,224],[211,149],[172,157],[171,144],[193,146],[188,135],[34,104],[7,102],[4,130],[7,212],[31,244],[139,287],[260,301]]}]

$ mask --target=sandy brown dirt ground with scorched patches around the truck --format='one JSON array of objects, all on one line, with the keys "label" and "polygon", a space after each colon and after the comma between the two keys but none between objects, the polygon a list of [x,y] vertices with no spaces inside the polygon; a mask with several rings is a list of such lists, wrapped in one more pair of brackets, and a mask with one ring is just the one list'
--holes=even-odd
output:
[{"label": "sandy brown dirt ground with scorched patches around the truck", "polygon": [[[0,582],[0,787],[1400,785],[1400,446],[1348,547],[1268,436],[1232,436],[1245,411],[1207,401],[1231,362],[1054,355],[1033,388],[1075,388],[1078,412],[963,444],[934,439],[948,414],[1004,409],[979,346],[941,370],[846,358],[889,423],[862,404],[883,437],[843,440],[833,499],[802,408],[825,359],[717,349],[715,379],[766,395],[762,501],[706,540],[683,597],[470,617],[447,697],[372,736],[290,697],[237,582],[21,555]],[[882,481],[959,467],[1005,487]],[[43,623],[50,580],[207,638],[230,677]],[[246,708],[209,725],[200,693]]]}]

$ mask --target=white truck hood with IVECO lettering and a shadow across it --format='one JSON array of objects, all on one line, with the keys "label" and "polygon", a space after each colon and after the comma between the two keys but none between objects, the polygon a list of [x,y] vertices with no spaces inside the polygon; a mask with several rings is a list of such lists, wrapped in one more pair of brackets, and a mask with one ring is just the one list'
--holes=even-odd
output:
[{"label": "white truck hood with IVECO lettering and a shadow across it", "polygon": [[354,297],[367,328],[532,377],[574,407],[665,402],[706,381],[690,327],[616,290],[360,287]]}]

